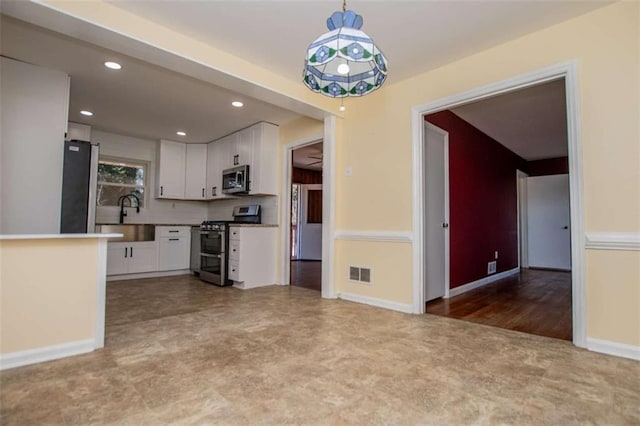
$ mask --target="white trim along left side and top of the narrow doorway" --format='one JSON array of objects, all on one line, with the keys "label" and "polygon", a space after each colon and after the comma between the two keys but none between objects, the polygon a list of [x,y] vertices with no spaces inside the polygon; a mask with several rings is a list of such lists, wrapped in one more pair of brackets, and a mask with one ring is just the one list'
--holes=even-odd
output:
[{"label": "white trim along left side and top of the narrow doorway", "polygon": [[280,209],[280,223],[282,227],[280,228],[280,247],[284,254],[280,259],[281,285],[289,285],[291,279],[291,236],[289,228],[291,225],[291,165],[293,164],[293,151],[318,142],[323,142],[322,133],[317,133],[308,138],[288,143],[282,147],[282,158],[284,158],[284,162],[282,163],[282,208]]}]

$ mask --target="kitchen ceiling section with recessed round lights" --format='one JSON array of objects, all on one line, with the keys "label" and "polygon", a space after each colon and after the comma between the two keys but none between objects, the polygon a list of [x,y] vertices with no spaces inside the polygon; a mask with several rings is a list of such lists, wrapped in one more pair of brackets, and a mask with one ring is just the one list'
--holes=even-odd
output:
[{"label": "kitchen ceiling section with recessed round lights", "polygon": [[[208,142],[298,114],[95,45],[2,17],[2,54],[71,76],[69,120],[149,139]],[[103,63],[122,64],[119,71]],[[244,102],[234,108],[233,100]],[[87,109],[93,117],[85,117]],[[181,130],[187,136],[178,136]]]}]

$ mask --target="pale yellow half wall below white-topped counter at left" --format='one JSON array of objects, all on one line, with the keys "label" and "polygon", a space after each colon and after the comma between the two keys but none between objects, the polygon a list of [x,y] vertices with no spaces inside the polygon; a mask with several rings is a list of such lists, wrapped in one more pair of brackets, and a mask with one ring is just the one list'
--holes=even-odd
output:
[{"label": "pale yellow half wall below white-topped counter at left", "polygon": [[0,241],[0,353],[95,338],[97,239]]}]

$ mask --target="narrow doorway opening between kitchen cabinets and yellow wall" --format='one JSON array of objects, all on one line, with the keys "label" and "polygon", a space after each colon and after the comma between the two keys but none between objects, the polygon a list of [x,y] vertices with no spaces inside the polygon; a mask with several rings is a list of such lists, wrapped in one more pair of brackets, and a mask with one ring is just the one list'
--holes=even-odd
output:
[{"label": "narrow doorway opening between kitchen cabinets and yellow wall", "polygon": [[296,148],[291,162],[290,285],[322,289],[323,144]]}]

